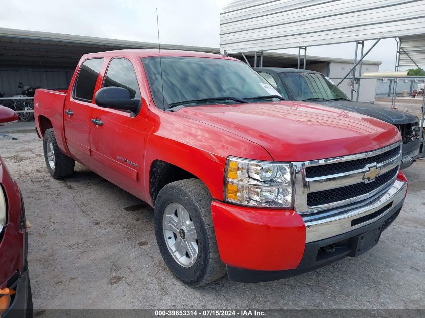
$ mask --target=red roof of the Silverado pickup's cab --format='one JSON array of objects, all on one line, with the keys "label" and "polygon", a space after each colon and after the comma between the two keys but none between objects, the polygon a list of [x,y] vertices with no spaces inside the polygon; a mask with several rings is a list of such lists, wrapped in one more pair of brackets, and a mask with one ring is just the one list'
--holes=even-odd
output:
[{"label": "red roof of the Silverado pickup's cab", "polygon": [[[121,57],[138,56],[140,58],[143,58],[143,57],[149,57],[149,56],[159,56],[159,50],[158,49],[115,50],[115,51],[89,53],[89,54],[85,54],[83,57],[87,58],[87,57],[111,57],[111,56],[121,56]],[[229,60],[239,61],[238,59],[223,56],[220,54],[194,52],[194,51],[181,51],[181,50],[161,50],[161,56],[205,57],[205,58],[219,58],[219,59],[229,59]]]}]

